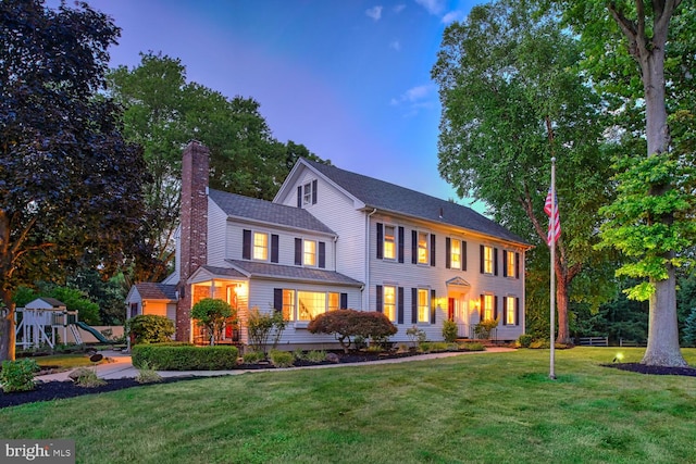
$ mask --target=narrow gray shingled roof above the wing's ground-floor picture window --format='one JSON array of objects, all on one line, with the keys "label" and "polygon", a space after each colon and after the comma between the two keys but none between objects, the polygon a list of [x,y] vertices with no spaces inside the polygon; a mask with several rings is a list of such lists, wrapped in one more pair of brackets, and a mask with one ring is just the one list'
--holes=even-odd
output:
[{"label": "narrow gray shingled roof above the wing's ground-floor picture window", "polygon": [[320,284],[338,284],[361,286],[362,283],[334,271],[314,267],[284,266],[281,264],[259,263],[256,261],[225,260],[249,277],[282,278],[284,280],[316,281]]}]

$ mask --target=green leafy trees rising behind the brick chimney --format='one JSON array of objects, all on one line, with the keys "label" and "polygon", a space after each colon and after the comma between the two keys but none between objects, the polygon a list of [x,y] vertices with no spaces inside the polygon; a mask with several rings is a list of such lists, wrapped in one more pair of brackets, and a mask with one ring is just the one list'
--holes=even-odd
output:
[{"label": "green leafy trees rising behind the brick chimney", "polygon": [[171,271],[181,152],[188,140],[210,149],[212,188],[266,200],[275,196],[299,155],[322,161],[302,145],[275,140],[256,100],[229,99],[187,83],[186,67],[178,59],[153,52],[140,57],[138,66],[120,66],[108,75],[111,95],[125,108],[124,134],[145,148],[153,177],[146,191],[146,240],[128,286],[160,280]]}]

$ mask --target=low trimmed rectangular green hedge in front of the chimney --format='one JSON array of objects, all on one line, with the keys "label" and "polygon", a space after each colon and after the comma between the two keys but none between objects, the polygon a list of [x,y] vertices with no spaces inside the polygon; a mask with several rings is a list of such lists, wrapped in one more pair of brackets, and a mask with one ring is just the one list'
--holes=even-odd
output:
[{"label": "low trimmed rectangular green hedge in front of the chimney", "polygon": [[236,347],[136,344],[133,365],[157,371],[225,371],[235,368]]}]

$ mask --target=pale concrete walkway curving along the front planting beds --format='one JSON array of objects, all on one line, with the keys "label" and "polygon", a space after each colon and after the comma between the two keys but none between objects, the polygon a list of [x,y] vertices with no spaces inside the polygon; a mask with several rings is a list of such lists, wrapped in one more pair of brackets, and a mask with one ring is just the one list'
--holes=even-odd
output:
[{"label": "pale concrete walkway curving along the front planting beds", "polygon": [[[499,347],[487,347],[486,351],[462,351],[456,353],[430,353],[430,354],[419,354],[415,356],[407,356],[407,358],[395,358],[388,360],[381,361],[368,361],[363,363],[338,363],[338,364],[321,364],[315,366],[307,366],[307,367],[288,367],[288,368],[276,368],[273,372],[277,371],[294,371],[298,368],[332,368],[332,367],[348,367],[348,366],[361,366],[361,365],[375,365],[375,364],[394,364],[394,363],[406,363],[412,361],[424,361],[424,360],[435,360],[439,358],[451,358],[451,356],[462,356],[462,355],[473,355],[473,354],[486,354],[486,353],[504,353],[509,351],[515,351],[512,348],[499,348]],[[127,353],[122,353],[120,351],[100,351],[101,354],[110,362],[98,364],[95,368],[97,369],[97,376],[104,379],[114,379],[114,378],[135,378],[138,375],[138,369],[133,367],[133,363],[130,361],[130,355]],[[37,376],[37,380],[41,381],[65,381],[70,380],[67,377],[71,371],[65,371],[57,374],[48,374]],[[269,369],[233,369],[233,371],[158,371],[158,373],[162,377],[215,377],[222,375],[238,375],[245,373],[259,373],[259,372],[269,372]]]}]

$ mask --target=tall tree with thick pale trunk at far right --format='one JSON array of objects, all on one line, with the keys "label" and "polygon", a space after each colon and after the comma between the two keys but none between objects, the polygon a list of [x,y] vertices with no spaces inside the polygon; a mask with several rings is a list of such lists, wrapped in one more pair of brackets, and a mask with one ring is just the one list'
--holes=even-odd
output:
[{"label": "tall tree with thick pale trunk at far right", "polygon": [[[647,150],[645,154],[625,153],[618,163],[622,170],[617,176],[619,195],[604,210],[608,222],[602,226],[604,243],[632,259],[619,273],[647,279],[629,292],[632,298],[649,300],[648,346],[642,362],[684,366],[675,268],[696,231],[692,173],[696,9],[693,2],[679,9],[681,0],[566,3],[568,20],[582,34],[592,57],[586,68],[594,80],[609,90],[612,87],[607,83],[613,81],[616,100],[624,104],[617,112],[637,113],[644,122],[642,130],[637,124],[624,126],[630,136],[645,139]],[[673,18],[675,29],[671,30]],[[669,49],[676,53],[668,61]],[[629,79],[625,84],[623,76]],[[626,120],[639,121],[624,115],[618,124]],[[676,140],[671,126],[678,129]],[[686,147],[691,149],[685,151]]]}]

